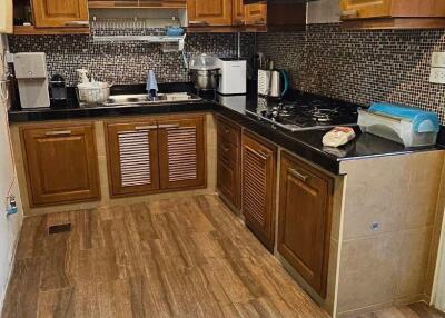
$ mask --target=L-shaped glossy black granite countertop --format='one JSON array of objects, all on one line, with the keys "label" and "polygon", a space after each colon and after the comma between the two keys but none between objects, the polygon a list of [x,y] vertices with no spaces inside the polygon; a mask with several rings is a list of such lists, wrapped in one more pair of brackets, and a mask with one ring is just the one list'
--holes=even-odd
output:
[{"label": "L-shaped glossy black granite countertop", "polygon": [[[137,93],[144,91],[144,86],[119,86],[113,89],[116,93]],[[194,92],[189,83],[160,85],[160,91],[188,91]],[[291,152],[323,167],[324,169],[339,173],[339,165],[344,160],[356,160],[369,157],[406,155],[415,151],[431,151],[442,149],[441,147],[428,147],[422,149],[405,149],[403,145],[383,139],[369,133],[362,133],[358,127],[355,127],[356,138],[349,143],[339,148],[324,147],[323,136],[329,129],[316,129],[305,131],[287,131],[271,123],[259,120],[257,117],[247,115],[246,109],[256,109],[257,97],[255,93],[246,96],[202,96],[201,101],[186,103],[165,103],[154,106],[111,106],[111,107],[89,107],[79,108],[76,102],[67,109],[28,109],[10,110],[10,123],[63,120],[80,118],[135,116],[135,115],[160,115],[171,112],[190,111],[214,111],[225,116],[245,128],[267,138],[268,140],[288,149]]]}]

